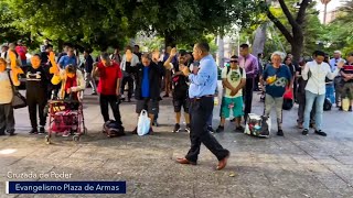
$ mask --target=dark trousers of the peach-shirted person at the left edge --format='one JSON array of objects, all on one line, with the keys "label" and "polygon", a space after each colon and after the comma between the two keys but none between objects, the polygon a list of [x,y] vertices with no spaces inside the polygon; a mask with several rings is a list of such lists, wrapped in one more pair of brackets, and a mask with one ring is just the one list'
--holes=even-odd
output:
[{"label": "dark trousers of the peach-shirted person at the left edge", "polygon": [[14,117],[11,103],[0,105],[0,134],[14,132]]}]

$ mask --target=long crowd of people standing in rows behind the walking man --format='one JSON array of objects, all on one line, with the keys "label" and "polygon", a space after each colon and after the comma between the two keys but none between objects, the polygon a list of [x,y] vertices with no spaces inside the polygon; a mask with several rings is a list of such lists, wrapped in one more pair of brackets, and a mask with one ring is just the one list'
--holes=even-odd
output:
[{"label": "long crowd of people standing in rows behind the walking man", "polygon": [[[31,120],[31,134],[45,133],[46,116],[45,107],[53,98],[64,99],[74,96],[74,99],[83,99],[83,90],[90,86],[92,95],[99,94],[99,106],[104,121],[110,120],[108,107],[114,112],[114,119],[122,125],[119,111],[120,101],[131,102],[132,97],[137,100],[136,113],[145,109],[151,119],[149,134],[153,134],[152,125],[158,127],[159,101],[164,96],[172,95],[172,105],[175,112],[173,132],[181,131],[181,116],[184,112],[185,131],[191,132],[190,105],[191,85],[184,73],[188,68],[191,74],[201,78],[200,61],[196,61],[192,52],[176,51],[175,47],[165,47],[151,53],[140,53],[138,45],[127,46],[124,54],[116,47],[113,54],[101,53],[96,59],[85,50],[83,59],[78,52],[69,45],[57,56],[53,52],[53,45],[44,41],[40,46],[40,53],[34,54],[30,63],[26,63],[26,47],[21,41],[15,45],[1,46],[0,58],[0,134],[9,132],[14,134],[13,110],[11,96],[13,95],[10,74],[11,59],[9,54],[15,54],[15,65],[25,69],[26,101]],[[349,54],[346,61],[341,58],[341,52],[335,51],[333,58],[328,54],[317,51],[312,59],[301,58],[293,61],[293,56],[281,52],[275,52],[268,63],[264,63],[263,54],[254,56],[247,44],[240,45],[240,54],[229,59],[229,66],[222,69],[222,105],[221,122],[214,131],[211,114],[206,120],[205,128],[210,132],[224,131],[226,119],[234,118],[235,131],[244,132],[242,120],[246,123],[252,113],[253,92],[263,90],[265,98],[264,114],[269,116],[275,107],[277,114],[277,134],[282,136],[282,105],[284,95],[288,91],[293,94],[293,101],[299,103],[298,128],[307,135],[310,127],[314,127],[315,133],[327,135],[322,130],[322,114],[324,100],[330,100],[342,110],[343,98],[350,100],[349,111],[352,111],[353,102],[353,54]],[[9,70],[9,72],[8,72]],[[202,78],[206,82],[208,76]],[[127,87],[127,96],[125,96]],[[210,94],[214,100],[217,97],[217,86]],[[232,112],[232,114],[231,114]],[[40,127],[38,127],[38,117]],[[243,119],[244,118],[244,119]],[[137,128],[132,131],[137,133]],[[67,135],[67,134],[65,134]]]}]

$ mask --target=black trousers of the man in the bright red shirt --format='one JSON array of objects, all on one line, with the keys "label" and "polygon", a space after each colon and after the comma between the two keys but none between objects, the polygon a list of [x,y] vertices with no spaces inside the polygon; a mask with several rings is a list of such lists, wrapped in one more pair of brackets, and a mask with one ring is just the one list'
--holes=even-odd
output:
[{"label": "black trousers of the man in the bright red shirt", "polygon": [[100,111],[101,111],[104,122],[107,122],[109,120],[108,106],[110,105],[115,121],[117,121],[119,124],[122,125],[117,96],[115,96],[115,95],[100,95],[99,96],[99,105],[100,105]]}]

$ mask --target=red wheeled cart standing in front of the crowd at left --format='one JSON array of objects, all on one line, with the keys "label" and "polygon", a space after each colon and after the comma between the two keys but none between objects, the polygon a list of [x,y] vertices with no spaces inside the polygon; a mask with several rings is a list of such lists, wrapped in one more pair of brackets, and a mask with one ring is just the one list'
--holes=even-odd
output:
[{"label": "red wheeled cart standing in front of the crowd at left", "polygon": [[78,142],[82,134],[87,133],[79,100],[69,99],[49,101],[49,134],[45,143],[51,143],[52,134],[73,134],[73,141]]}]

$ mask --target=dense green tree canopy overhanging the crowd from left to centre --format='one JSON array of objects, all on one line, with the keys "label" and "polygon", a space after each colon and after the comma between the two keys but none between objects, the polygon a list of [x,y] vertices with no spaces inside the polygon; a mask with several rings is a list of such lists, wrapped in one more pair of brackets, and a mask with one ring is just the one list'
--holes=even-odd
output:
[{"label": "dense green tree canopy overhanging the crowd from left to centre", "polygon": [[139,31],[157,32],[168,45],[194,43],[207,33],[222,34],[237,19],[248,24],[254,3],[252,0],[4,0],[0,9],[6,11],[1,15],[11,15],[3,24],[30,35],[31,42],[47,37],[104,50],[109,45],[121,46]]}]

